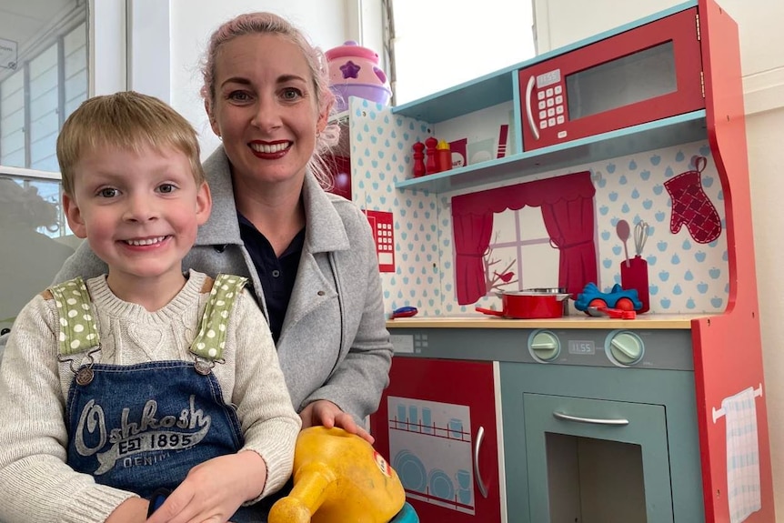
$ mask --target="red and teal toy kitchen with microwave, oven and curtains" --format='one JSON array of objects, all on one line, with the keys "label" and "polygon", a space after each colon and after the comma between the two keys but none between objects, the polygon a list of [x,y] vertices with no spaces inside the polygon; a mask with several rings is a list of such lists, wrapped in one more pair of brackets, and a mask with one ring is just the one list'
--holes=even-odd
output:
[{"label": "red and teal toy kitchen with microwave, oven and curtains", "polygon": [[422,521],[774,521],[719,5],[345,115],[396,351],[371,428]]}]

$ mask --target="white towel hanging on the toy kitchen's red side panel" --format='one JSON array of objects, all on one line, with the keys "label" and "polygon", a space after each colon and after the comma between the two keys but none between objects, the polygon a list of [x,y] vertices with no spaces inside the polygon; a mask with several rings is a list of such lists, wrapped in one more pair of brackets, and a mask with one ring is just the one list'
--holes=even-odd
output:
[{"label": "white towel hanging on the toy kitchen's red side panel", "polygon": [[729,521],[741,523],[762,508],[759,486],[759,438],[754,388],[721,402],[727,423]]}]

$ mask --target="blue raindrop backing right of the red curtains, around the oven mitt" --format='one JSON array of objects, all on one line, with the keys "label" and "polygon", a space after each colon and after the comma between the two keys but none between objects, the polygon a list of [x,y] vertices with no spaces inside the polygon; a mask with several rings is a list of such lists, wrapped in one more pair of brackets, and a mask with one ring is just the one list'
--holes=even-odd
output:
[{"label": "blue raindrop backing right of the red curtains, around the oven mitt", "polygon": [[[699,176],[700,185],[721,223],[719,236],[707,244],[695,241],[686,224],[676,234],[670,232],[672,198],[664,183],[694,170],[694,156],[708,160]],[[616,234],[618,220],[627,220],[632,234],[634,224],[644,220],[649,225],[649,236],[641,256],[648,262],[651,312],[722,312],[729,296],[724,194],[708,143],[622,156],[591,170],[597,189],[600,287],[608,290],[620,283],[619,264],[625,257]],[[629,238],[629,256],[633,256],[633,246]]]}]

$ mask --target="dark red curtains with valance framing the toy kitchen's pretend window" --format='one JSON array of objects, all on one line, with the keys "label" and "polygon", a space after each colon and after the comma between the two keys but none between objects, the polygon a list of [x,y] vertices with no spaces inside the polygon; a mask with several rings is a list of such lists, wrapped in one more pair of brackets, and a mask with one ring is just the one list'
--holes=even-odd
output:
[{"label": "dark red curtains with valance framing the toy kitchen's pretend window", "polygon": [[541,207],[550,241],[560,251],[558,287],[576,295],[596,282],[595,194],[585,171],[453,197],[457,303],[476,303],[487,294],[482,256],[490,244],[493,214],[524,206]]}]

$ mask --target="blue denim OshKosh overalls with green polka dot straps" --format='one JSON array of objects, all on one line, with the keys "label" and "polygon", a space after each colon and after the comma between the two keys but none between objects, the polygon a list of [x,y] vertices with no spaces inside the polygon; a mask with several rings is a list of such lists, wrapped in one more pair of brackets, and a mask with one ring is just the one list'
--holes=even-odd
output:
[{"label": "blue denim OshKosh overalls with green polka dot straps", "polygon": [[[228,317],[245,283],[216,277],[190,347],[193,360],[132,366],[94,363],[100,333],[81,278],[50,288],[60,313],[60,359],[75,372],[65,405],[71,468],[149,498],[156,488],[176,488],[207,459],[242,448],[235,408],[211,369],[223,363]],[[87,363],[75,368],[85,354]],[[230,520],[266,520],[255,512],[240,508]]]}]

